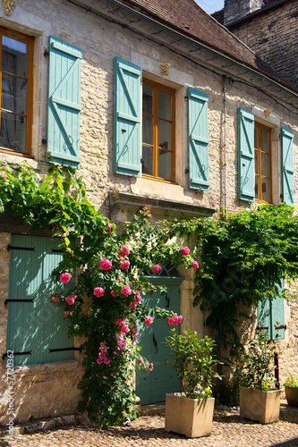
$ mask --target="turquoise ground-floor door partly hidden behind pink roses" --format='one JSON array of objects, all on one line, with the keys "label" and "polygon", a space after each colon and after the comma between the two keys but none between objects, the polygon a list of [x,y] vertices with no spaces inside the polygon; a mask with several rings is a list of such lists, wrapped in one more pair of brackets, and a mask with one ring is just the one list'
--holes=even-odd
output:
[{"label": "turquoise ground-floor door partly hidden behind pink roses", "polygon": [[[147,298],[149,306],[167,308],[177,314],[180,313],[180,291],[179,283],[175,280],[166,278],[163,283],[167,283],[167,292],[160,295],[160,292],[154,293]],[[144,325],[143,325],[144,326]],[[174,326],[168,325],[166,320],[157,320],[149,327],[145,326],[140,331],[140,355],[153,363],[153,371],[136,371],[136,394],[140,397],[140,404],[166,401],[166,392],[179,392],[180,381],[177,379],[175,370],[170,364],[165,367],[166,358],[171,360],[168,355],[169,349],[166,346],[166,336]],[[179,326],[175,326],[179,327]]]}]

